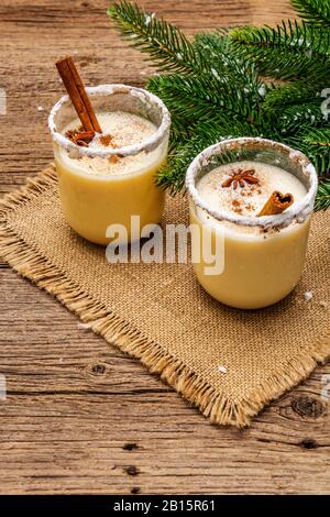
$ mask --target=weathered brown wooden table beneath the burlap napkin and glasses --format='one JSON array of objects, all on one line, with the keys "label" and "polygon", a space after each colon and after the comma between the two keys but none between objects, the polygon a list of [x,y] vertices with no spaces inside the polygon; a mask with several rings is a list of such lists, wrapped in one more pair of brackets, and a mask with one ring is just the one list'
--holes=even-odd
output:
[{"label": "weathered brown wooden table beneath the burlap napkin and glasses", "polygon": [[[188,35],[276,23],[285,0],[140,4]],[[143,85],[152,69],[110,28],[102,0],[1,0],[1,191],[52,160],[47,112],[72,54],[88,84]],[[245,430],[211,426],[139,363],[0,262],[0,492],[11,494],[329,493],[329,408],[319,367]]]}]

